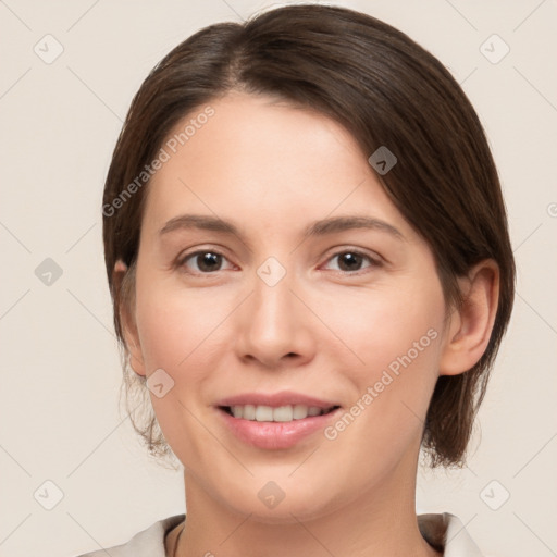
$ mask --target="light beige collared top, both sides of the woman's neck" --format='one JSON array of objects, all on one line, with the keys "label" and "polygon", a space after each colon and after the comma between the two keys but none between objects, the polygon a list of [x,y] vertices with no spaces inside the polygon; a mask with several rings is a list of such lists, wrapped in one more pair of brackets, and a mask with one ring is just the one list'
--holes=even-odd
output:
[{"label": "light beige collared top, both sides of the woman's neck", "polygon": [[[106,547],[78,557],[168,557],[164,553],[164,536],[183,522],[185,515],[175,515],[154,522],[138,532],[129,542]],[[423,537],[433,546],[444,547],[444,557],[482,557],[462,522],[448,512],[442,515],[419,515],[418,525]]]}]

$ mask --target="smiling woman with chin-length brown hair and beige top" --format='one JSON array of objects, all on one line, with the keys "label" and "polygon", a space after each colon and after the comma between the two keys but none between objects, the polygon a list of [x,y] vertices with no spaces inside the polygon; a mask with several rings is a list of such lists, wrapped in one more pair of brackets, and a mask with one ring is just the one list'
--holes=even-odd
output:
[{"label": "smiling woman with chin-length brown hair and beige top", "polygon": [[343,8],[205,28],[137,92],[103,219],[134,425],[187,502],[112,556],[481,555],[414,506],[420,448],[465,462],[515,284],[435,58]]}]

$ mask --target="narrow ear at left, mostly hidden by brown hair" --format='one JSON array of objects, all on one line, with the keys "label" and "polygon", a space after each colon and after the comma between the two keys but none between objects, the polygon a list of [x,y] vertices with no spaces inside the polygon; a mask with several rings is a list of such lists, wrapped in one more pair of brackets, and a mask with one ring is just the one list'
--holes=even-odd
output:
[{"label": "narrow ear at left, mostly hidden by brown hair", "polygon": [[[122,288],[124,278],[129,280],[129,275],[127,275],[129,272],[127,265],[119,259],[114,264],[112,274],[116,288]],[[128,284],[124,285],[124,289],[122,290],[123,296],[121,296],[120,308],[117,309],[120,311],[120,322],[126,351],[129,355],[129,366],[138,375],[146,375],[141,345],[139,343],[139,334],[135,321],[135,308],[132,307],[135,306],[135,295],[131,292],[129,286],[135,288],[135,284]]]}]

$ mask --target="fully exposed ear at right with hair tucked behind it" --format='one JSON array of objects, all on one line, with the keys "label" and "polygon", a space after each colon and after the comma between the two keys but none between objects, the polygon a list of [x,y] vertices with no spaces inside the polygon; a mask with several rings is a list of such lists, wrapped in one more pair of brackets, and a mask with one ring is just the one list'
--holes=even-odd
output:
[{"label": "fully exposed ear at right with hair tucked behind it", "polygon": [[499,299],[499,268],[493,259],[481,261],[459,280],[462,306],[455,309],[445,336],[441,375],[458,375],[473,368],[485,352]]}]

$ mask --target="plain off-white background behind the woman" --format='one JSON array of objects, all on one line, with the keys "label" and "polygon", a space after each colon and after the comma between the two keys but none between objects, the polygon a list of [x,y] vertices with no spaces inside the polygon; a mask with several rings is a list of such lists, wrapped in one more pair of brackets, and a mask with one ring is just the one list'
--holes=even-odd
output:
[{"label": "plain off-white background behind the woman", "polygon": [[[458,515],[487,556],[557,555],[557,4],[336,3],[407,33],[462,84],[498,164],[518,264],[512,322],[469,467],[420,470],[418,509]],[[0,2],[2,556],[72,557],[184,511],[182,472],[156,465],[119,413],[102,186],[149,70],[197,29],[271,5]],[[510,48],[498,63],[506,47],[493,34]],[[57,41],[63,52],[48,64]],[[50,285],[36,273],[47,258],[63,273]],[[47,510],[57,490],[63,498]]]}]

